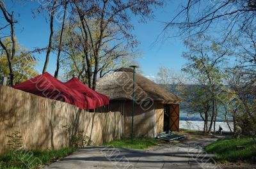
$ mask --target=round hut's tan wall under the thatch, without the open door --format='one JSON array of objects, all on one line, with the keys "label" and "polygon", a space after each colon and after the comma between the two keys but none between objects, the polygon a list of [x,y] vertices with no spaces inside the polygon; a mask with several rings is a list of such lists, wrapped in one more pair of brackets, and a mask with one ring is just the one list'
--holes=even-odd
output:
[{"label": "round hut's tan wall under the thatch, without the open door", "polygon": [[[157,133],[163,132],[164,125],[164,105],[154,102],[148,110],[143,110],[140,105],[135,104],[134,112],[134,136],[153,138]],[[131,136],[132,122],[132,101],[111,100],[109,110],[120,111],[124,117],[124,136]]]}]

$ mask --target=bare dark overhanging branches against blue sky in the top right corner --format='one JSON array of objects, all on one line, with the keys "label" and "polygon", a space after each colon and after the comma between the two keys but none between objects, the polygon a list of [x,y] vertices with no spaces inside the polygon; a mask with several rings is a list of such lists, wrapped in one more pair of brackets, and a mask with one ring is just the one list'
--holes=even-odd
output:
[{"label": "bare dark overhanging branches against blue sky in the top right corner", "polygon": [[223,33],[224,39],[232,32],[243,33],[244,28],[255,26],[256,2],[254,0],[183,1],[170,22],[166,22],[164,31],[171,27],[179,27],[180,35],[213,31]]}]

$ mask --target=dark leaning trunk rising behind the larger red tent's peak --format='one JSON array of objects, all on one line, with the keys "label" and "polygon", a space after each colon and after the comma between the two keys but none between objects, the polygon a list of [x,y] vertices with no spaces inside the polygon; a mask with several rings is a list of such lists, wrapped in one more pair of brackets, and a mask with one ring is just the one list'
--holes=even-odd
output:
[{"label": "dark leaning trunk rising behind the larger red tent's peak", "polygon": [[57,3],[57,0],[54,0],[54,3],[52,5],[52,10],[51,10],[51,19],[50,19],[50,31],[51,32],[50,32],[50,36],[49,36],[49,45],[48,45],[47,52],[46,52],[43,73],[45,73],[45,71],[47,70],[47,66],[49,63],[49,57],[50,57],[50,53],[51,53],[51,49],[52,49],[53,19],[54,19],[56,3]]}]

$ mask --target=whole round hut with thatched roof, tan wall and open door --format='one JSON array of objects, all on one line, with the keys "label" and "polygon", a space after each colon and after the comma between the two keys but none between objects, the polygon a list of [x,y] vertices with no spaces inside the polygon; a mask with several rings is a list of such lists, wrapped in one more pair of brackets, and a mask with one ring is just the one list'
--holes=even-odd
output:
[{"label": "whole round hut with thatched roof, tan wall and open door", "polygon": [[[154,137],[165,130],[179,131],[181,98],[136,73],[134,135]],[[120,68],[100,78],[97,91],[109,96],[109,110],[121,112],[124,134],[131,136],[133,70]]]}]

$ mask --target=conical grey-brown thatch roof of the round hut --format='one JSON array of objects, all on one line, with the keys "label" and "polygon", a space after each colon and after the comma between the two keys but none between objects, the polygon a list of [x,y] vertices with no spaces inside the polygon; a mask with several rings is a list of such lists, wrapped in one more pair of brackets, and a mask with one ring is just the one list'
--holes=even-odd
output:
[{"label": "conical grey-brown thatch roof of the round hut", "polygon": [[[136,73],[135,76],[136,100],[151,98],[161,103],[179,103],[182,99],[167,91],[148,78]],[[120,68],[113,73],[100,78],[97,82],[97,91],[109,96],[110,99],[131,99],[133,73],[131,68]]]}]

